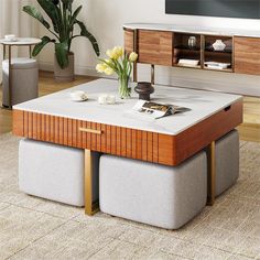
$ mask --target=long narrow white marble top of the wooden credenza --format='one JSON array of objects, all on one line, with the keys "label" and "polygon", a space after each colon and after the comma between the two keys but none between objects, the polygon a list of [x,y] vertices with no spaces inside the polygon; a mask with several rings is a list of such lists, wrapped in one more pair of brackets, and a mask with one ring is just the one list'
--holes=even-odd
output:
[{"label": "long narrow white marble top of the wooden credenza", "polygon": [[142,30],[158,30],[170,32],[196,33],[207,35],[225,35],[225,36],[248,36],[260,37],[260,30],[239,30],[228,28],[209,28],[209,26],[195,26],[195,25],[178,25],[178,24],[164,24],[164,23],[124,23],[126,29],[142,29]]}]

